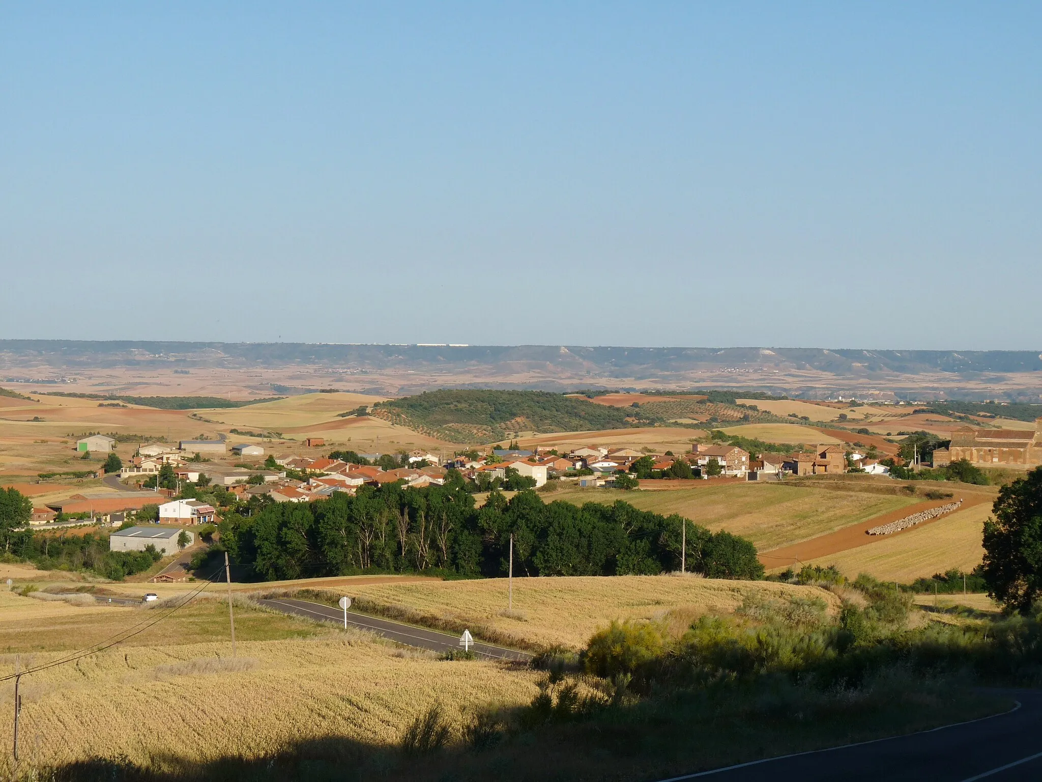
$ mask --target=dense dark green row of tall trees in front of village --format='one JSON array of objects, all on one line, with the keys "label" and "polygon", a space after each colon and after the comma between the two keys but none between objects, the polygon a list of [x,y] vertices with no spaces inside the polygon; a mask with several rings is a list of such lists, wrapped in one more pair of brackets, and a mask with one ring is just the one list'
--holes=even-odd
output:
[{"label": "dense dark green row of tall trees in front of village", "polygon": [[520,576],[655,575],[686,565],[713,578],[756,579],[763,566],[748,540],[711,533],[678,515],[613,505],[544,504],[532,491],[507,500],[493,491],[477,508],[458,474],[445,486],[363,486],[309,504],[281,503],[252,515],[229,513],[221,545],[262,581],[365,571],[505,576],[511,537]]}]

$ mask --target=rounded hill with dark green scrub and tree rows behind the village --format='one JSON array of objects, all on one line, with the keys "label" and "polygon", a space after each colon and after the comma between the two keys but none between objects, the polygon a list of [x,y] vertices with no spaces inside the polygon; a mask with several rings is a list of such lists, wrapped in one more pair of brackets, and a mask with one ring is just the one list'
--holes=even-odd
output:
[{"label": "rounded hill with dark green scrub and tree rows behind the village", "polygon": [[635,411],[547,391],[428,391],[373,406],[372,415],[450,442],[491,443],[518,432],[625,429]]}]

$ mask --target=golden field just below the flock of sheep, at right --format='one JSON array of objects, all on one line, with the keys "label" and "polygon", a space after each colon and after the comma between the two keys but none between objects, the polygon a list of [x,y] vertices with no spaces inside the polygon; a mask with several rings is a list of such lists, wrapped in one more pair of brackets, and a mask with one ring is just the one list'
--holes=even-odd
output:
[{"label": "golden field just below the flock of sheep, at right", "polygon": [[921,529],[822,557],[812,564],[835,564],[849,577],[867,572],[884,581],[903,582],[950,567],[972,570],[984,557],[981,535],[990,513],[988,504],[974,506]]}]

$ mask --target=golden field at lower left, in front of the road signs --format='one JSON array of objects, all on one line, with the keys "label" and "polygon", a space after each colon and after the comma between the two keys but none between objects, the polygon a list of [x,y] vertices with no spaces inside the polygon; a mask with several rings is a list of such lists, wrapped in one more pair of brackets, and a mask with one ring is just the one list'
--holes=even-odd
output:
[{"label": "golden field at lower left, in front of the road signs", "polygon": [[[16,601],[15,604],[11,601]],[[22,602],[18,604],[17,602]],[[21,616],[23,632],[64,649],[36,617],[38,601],[5,597],[4,613]],[[50,608],[53,604],[40,604]],[[128,626],[143,610],[79,609],[97,617],[109,611]],[[188,610],[188,609],[187,609]],[[451,707],[529,702],[536,671],[491,662],[443,662],[401,653],[356,633],[249,609],[237,609],[237,631],[253,625],[274,640],[239,636],[238,660],[226,638],[227,607],[204,602],[175,614],[151,642],[127,644],[22,682],[22,753],[29,765],[92,755],[127,756],[147,763],[174,755],[196,760],[267,756],[280,747],[326,736],[368,746],[393,744],[404,727],[436,701]],[[36,617],[36,618],[29,618]],[[216,628],[224,622],[224,633]],[[9,625],[10,622],[5,622]],[[200,633],[199,628],[207,628]],[[282,637],[292,627],[297,637]],[[153,631],[149,631],[153,632]],[[207,635],[202,640],[201,635]],[[256,634],[253,634],[256,635]],[[215,641],[215,638],[221,640]],[[84,639],[77,639],[77,644]],[[53,651],[0,657],[0,675],[54,657]],[[463,668],[463,669],[462,669]],[[13,682],[0,685],[0,708],[9,709]],[[162,724],[162,730],[151,727]],[[0,725],[9,747],[10,720]],[[2,768],[0,768],[2,772]]]}]

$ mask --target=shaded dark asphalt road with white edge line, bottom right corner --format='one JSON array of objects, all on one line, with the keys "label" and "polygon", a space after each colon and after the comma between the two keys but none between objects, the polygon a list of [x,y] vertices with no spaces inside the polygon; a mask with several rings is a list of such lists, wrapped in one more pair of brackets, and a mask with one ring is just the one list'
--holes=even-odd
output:
[{"label": "shaded dark asphalt road with white edge line, bottom right corner", "polygon": [[1042,691],[1008,690],[1006,714],[909,736],[672,777],[712,782],[1021,782],[1042,780]]}]

